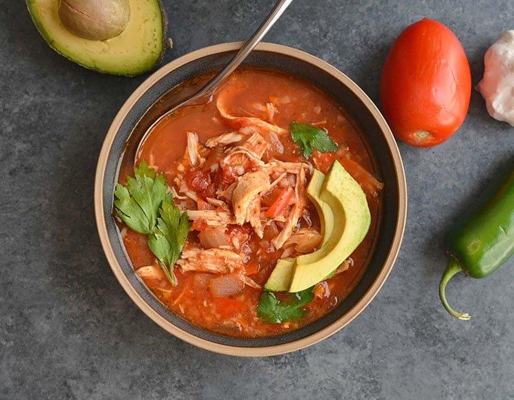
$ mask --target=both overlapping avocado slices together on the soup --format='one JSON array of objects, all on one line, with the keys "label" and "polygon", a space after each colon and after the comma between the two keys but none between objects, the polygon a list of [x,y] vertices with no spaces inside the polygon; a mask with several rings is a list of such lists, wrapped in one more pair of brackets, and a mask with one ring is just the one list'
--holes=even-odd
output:
[{"label": "both overlapping avocado slices together on the soup", "polygon": [[327,279],[368,233],[371,215],[365,193],[341,163],[334,161],[321,184],[318,179],[309,183],[307,194],[311,194],[318,213],[321,210],[323,244],[314,253],[279,260],[266,290],[298,292]]}]

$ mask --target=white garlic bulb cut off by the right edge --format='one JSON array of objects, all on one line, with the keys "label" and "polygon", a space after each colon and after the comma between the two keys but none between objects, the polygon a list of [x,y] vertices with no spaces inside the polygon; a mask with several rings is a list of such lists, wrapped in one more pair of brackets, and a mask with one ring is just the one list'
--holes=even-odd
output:
[{"label": "white garlic bulb cut off by the right edge", "polygon": [[514,126],[514,30],[506,30],[484,55],[484,78],[477,84],[489,115]]}]

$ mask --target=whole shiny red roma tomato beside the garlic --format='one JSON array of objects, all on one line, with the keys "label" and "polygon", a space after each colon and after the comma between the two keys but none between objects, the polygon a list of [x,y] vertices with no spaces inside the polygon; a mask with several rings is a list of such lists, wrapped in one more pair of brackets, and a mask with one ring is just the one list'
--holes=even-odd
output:
[{"label": "whole shiny red roma tomato beside the garlic", "polygon": [[423,18],[392,44],[380,78],[385,120],[399,140],[439,145],[464,122],[471,72],[459,39],[440,22]]}]

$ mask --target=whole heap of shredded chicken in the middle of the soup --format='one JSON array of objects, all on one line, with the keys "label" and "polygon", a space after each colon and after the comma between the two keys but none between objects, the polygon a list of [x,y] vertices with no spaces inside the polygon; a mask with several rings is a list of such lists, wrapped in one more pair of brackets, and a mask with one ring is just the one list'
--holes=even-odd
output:
[{"label": "whole heap of shredded chicken in the middle of the soup", "polygon": [[[265,104],[269,120],[273,120],[278,112],[277,104],[271,101]],[[245,256],[240,253],[241,240],[247,240],[244,237],[249,234],[229,235],[231,230],[228,228],[249,224],[255,235],[263,239],[265,227],[270,226],[278,233],[267,239],[269,248],[285,246],[285,252],[289,253],[307,253],[316,248],[321,242],[321,235],[313,229],[298,229],[298,222],[307,205],[306,176],[312,172],[312,165],[269,158],[267,149],[270,146],[273,152],[283,152],[280,136],[286,132],[285,129],[256,117],[231,116],[222,106],[222,96],[218,97],[217,107],[220,116],[238,130],[214,136],[204,145],[198,143],[195,132],[187,132],[187,150],[184,161],[179,162],[182,170],[179,169],[181,172],[175,178],[178,191],[173,192],[173,196],[182,199],[183,204],[187,198],[195,200],[195,203],[203,200],[204,204],[216,209],[186,210],[193,221],[193,229],[199,232],[203,247],[184,246],[177,264],[182,271],[239,271],[245,284],[260,287],[242,269]],[[265,138],[269,138],[271,143]],[[217,174],[218,181],[215,196],[200,199],[200,194],[188,187],[184,176],[187,175],[188,165],[201,167],[204,163],[207,163],[205,169],[212,176]],[[294,188],[292,198],[273,218],[266,217],[267,206],[263,207],[261,203],[263,197],[272,190],[281,191],[287,187]],[[220,235],[227,235],[227,240],[220,240]]]}]

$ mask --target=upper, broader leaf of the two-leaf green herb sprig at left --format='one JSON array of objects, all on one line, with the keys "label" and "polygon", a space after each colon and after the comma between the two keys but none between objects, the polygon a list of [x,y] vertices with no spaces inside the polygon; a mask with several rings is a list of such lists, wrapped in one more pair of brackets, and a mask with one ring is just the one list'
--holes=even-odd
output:
[{"label": "upper, broader leaf of the two-leaf green herb sprig at left", "polygon": [[127,186],[117,183],[114,205],[117,214],[131,229],[149,235],[157,224],[158,210],[166,198],[168,183],[164,174],[155,174],[141,161],[139,169],[134,167],[134,176],[128,176]]}]

